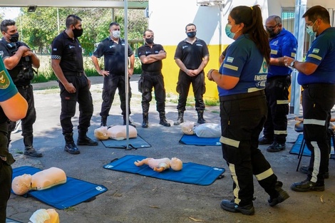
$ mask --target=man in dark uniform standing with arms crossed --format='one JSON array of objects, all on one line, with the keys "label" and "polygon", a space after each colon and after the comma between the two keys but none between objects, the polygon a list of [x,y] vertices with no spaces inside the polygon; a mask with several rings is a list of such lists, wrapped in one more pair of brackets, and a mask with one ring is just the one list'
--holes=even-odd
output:
[{"label": "man in dark uniform standing with arms crossed", "polygon": [[142,93],[143,128],[148,128],[148,112],[150,101],[153,99],[152,91],[155,88],[156,109],[160,113],[160,125],[171,126],[165,118],[165,88],[162,74],[162,60],[166,52],[162,45],[153,43],[153,31],[147,29],[143,33],[145,44],[138,48],[138,57],[142,62],[142,76],[139,90]]}]

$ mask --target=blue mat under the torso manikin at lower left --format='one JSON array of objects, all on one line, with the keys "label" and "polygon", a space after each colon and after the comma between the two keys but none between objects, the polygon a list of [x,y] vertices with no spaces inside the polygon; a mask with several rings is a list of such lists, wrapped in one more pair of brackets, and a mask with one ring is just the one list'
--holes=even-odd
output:
[{"label": "blue mat under the torso manikin at lower left", "polygon": [[[17,167],[13,169],[13,179],[24,174],[33,175],[39,171],[41,170],[36,167]],[[46,190],[31,190],[23,196],[34,197],[57,209],[66,209],[81,202],[86,202],[107,190],[103,185],[95,185],[91,182],[66,177],[66,183],[63,185],[56,185]]]}]

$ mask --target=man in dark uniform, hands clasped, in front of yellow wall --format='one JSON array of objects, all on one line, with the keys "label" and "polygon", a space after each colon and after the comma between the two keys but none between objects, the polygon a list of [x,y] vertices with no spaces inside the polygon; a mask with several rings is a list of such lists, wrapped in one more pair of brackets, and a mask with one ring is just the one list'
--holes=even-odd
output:
[{"label": "man in dark uniform, hands clasped, in front of yellow wall", "polygon": [[178,118],[173,125],[180,125],[184,122],[184,111],[186,110],[186,100],[191,83],[195,95],[197,123],[206,123],[204,119],[205,103],[202,97],[206,92],[204,68],[210,60],[210,53],[205,41],[195,37],[197,34],[195,24],[187,24],[185,33],[187,38],[178,44],[175,51],[175,63],[177,63],[180,71],[176,89],[179,93]]}]

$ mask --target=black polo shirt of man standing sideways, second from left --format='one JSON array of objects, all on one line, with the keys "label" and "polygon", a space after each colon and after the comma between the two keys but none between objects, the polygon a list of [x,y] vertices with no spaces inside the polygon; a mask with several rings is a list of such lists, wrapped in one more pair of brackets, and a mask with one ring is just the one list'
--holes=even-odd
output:
[{"label": "black polo shirt of man standing sideways, second from left", "polygon": [[78,38],[70,38],[65,31],[51,43],[51,59],[61,60],[63,71],[70,73],[83,72],[83,50]]}]

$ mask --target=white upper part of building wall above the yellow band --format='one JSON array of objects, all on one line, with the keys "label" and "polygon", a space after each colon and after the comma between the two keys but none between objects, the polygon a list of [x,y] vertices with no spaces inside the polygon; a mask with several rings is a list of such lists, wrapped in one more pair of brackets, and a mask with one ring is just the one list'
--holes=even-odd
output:
[{"label": "white upper part of building wall above the yellow band", "polygon": [[197,6],[197,0],[149,0],[149,27],[155,32],[155,41],[163,45],[177,45],[186,38],[185,26],[189,23],[197,26],[197,37],[207,44],[225,45],[232,42],[225,35],[232,8],[259,4],[264,11],[263,19],[268,16],[267,0],[226,0],[225,3],[220,11],[219,6]]}]

